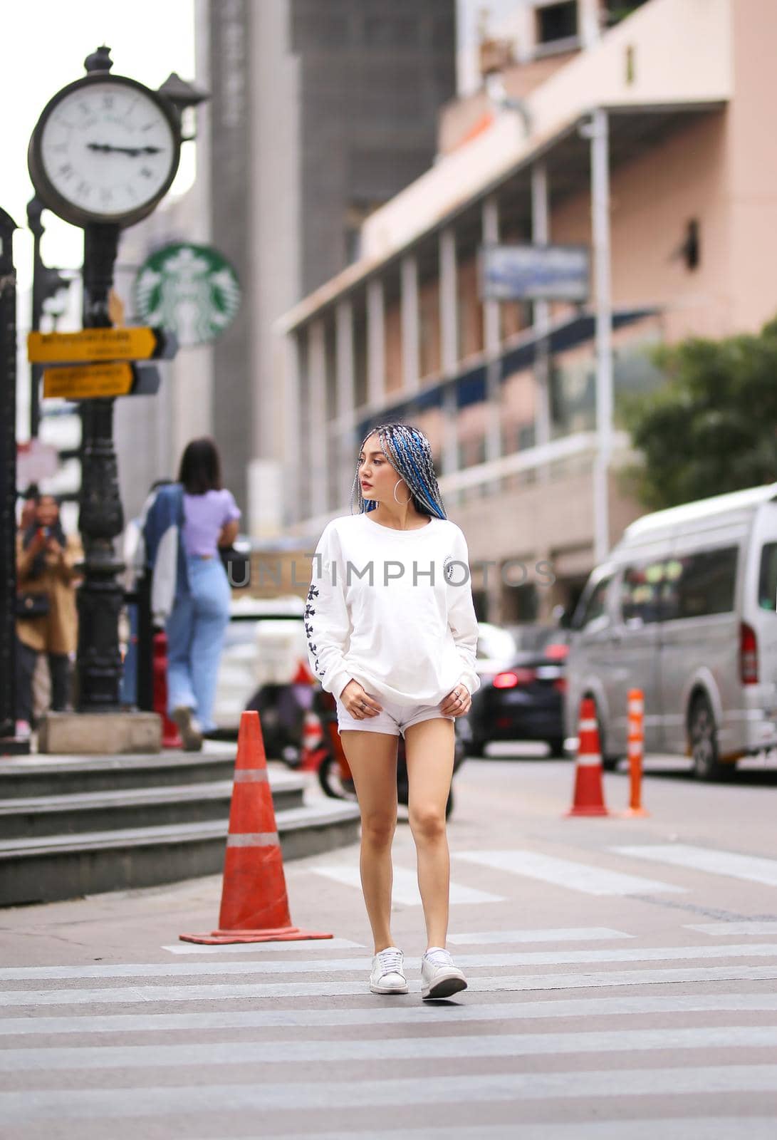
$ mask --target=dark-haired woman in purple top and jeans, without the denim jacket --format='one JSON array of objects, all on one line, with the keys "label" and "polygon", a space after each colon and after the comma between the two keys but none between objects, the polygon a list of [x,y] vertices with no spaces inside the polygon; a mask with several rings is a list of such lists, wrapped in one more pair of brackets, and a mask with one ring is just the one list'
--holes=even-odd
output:
[{"label": "dark-haired woman in purple top and jeans, without the denim jacket", "polygon": [[187,751],[202,748],[212,719],[219,661],[229,621],[229,583],[219,547],[231,546],[240,511],[221,486],[221,461],[212,439],[194,439],[181,457],[187,588],[177,591],[167,633],[167,708]]}]

